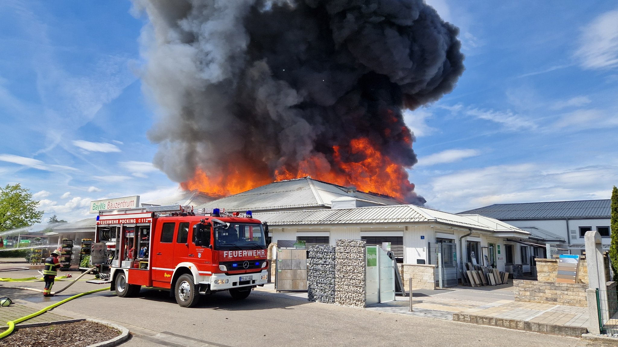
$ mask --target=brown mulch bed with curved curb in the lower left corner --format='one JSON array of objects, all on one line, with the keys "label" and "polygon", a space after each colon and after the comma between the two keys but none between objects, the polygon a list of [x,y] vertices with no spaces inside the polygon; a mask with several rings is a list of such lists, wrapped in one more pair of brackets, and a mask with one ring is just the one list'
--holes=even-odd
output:
[{"label": "brown mulch bed with curved curb in the lower left corner", "polygon": [[0,346],[11,347],[84,347],[111,340],[121,332],[107,325],[81,322],[20,328],[0,340]]}]

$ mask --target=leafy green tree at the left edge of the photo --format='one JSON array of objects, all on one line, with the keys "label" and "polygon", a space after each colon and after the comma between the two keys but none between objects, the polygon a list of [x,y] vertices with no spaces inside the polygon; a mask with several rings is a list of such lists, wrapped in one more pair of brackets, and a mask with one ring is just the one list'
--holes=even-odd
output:
[{"label": "leafy green tree at the left edge of the photo", "polygon": [[19,183],[0,188],[0,232],[41,222],[43,211],[36,211],[38,204]]}]

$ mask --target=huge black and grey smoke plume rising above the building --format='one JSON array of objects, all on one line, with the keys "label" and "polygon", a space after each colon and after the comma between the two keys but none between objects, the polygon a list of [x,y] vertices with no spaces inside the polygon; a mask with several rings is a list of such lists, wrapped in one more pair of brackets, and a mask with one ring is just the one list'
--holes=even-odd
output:
[{"label": "huge black and grey smoke plume rising above the building", "polygon": [[[417,162],[402,109],[449,93],[464,71],[459,30],[422,0],[135,0],[149,138],[172,180],[243,170],[274,178],[310,157],[340,170],[355,138]],[[346,154],[347,153],[347,154]],[[316,168],[317,170],[317,168]],[[407,203],[423,204],[405,174]]]}]

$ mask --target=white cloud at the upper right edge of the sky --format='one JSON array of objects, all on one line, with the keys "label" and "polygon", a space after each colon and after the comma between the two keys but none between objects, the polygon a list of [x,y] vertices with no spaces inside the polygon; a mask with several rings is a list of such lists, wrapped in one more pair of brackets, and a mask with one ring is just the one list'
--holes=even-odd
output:
[{"label": "white cloud at the upper right edge of the sky", "polygon": [[596,17],[582,29],[580,48],[575,57],[584,69],[618,67],[618,10]]}]

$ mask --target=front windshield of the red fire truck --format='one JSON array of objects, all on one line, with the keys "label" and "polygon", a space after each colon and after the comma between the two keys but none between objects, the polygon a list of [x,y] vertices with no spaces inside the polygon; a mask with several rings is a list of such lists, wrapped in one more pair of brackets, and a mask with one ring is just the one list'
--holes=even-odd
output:
[{"label": "front windshield of the red fire truck", "polygon": [[261,224],[230,224],[229,227],[214,228],[217,249],[265,248],[266,239]]}]

